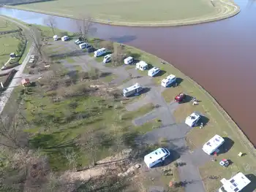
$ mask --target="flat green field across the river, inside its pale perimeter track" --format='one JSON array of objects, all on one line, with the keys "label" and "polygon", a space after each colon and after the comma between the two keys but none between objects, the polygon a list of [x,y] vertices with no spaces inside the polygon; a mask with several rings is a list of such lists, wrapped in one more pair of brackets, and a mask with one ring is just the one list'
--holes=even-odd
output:
[{"label": "flat green field across the river, inside its pale perimeter track", "polygon": [[206,0],[75,0],[72,1],[72,4],[67,0],[59,0],[23,4],[15,7],[71,17],[79,17],[80,14],[89,12],[92,17],[98,20],[109,19],[113,22],[124,23],[157,23],[167,20],[184,20],[206,17],[207,15],[214,15],[218,12],[218,7],[214,7],[210,1]]}]

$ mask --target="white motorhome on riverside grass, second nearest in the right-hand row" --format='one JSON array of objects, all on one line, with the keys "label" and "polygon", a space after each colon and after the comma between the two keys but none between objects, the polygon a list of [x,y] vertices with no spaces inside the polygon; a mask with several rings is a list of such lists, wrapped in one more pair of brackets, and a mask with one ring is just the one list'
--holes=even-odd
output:
[{"label": "white motorhome on riverside grass, second nearest in the right-hand row", "polygon": [[217,151],[218,148],[225,142],[225,139],[220,137],[219,135],[215,135],[212,137],[208,142],[203,145],[203,151],[206,152],[208,155],[211,155],[214,153],[214,151]]}]

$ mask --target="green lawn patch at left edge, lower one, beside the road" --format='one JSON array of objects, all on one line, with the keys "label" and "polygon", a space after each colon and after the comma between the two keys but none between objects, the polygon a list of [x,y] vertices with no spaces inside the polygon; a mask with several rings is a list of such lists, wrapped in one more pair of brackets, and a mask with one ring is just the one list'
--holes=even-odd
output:
[{"label": "green lawn patch at left edge, lower one, beside the road", "polygon": [[12,37],[12,34],[0,36],[0,67],[3,66],[10,58],[10,53],[15,53],[19,40]]}]

